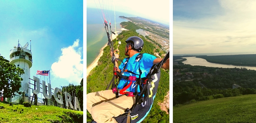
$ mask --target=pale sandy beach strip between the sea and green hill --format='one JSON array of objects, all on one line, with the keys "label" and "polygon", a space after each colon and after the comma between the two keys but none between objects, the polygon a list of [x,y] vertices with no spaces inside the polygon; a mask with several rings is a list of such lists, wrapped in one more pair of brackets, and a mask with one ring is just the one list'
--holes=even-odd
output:
[{"label": "pale sandy beach strip between the sea and green hill", "polygon": [[[117,31],[117,32],[118,32],[118,31]],[[112,34],[112,39],[115,39],[115,38],[118,36],[117,32],[115,32],[116,35]],[[108,46],[108,43],[106,43],[106,44],[102,47],[102,49],[100,50],[100,54],[98,55],[98,57],[92,62],[92,64],[91,64],[90,66],[87,67],[87,69],[86,69],[86,77],[88,77],[90,71],[91,71],[94,67],[96,67],[96,66],[98,65],[98,61],[99,61],[100,57],[103,55],[103,49],[104,49],[106,46]]]}]

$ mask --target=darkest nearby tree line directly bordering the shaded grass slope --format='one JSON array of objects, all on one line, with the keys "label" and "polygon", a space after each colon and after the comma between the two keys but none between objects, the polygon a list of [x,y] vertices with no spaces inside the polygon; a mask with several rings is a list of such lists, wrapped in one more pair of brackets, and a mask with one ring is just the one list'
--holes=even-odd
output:
[{"label": "darkest nearby tree line directly bordering the shaded grass slope", "polygon": [[[183,85],[183,86],[180,86],[180,85]],[[212,89],[212,88],[206,88],[206,87],[202,88],[201,86],[191,86],[191,83],[190,84],[174,83],[173,106],[190,104],[196,101],[240,96],[240,95],[247,95],[247,94],[256,94],[256,89],[239,87],[235,89],[227,88],[223,90],[223,89]]]}]

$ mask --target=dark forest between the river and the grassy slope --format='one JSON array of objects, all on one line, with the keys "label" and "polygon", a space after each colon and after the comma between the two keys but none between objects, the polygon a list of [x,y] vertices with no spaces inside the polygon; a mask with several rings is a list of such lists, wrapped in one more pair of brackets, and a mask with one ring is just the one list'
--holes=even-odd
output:
[{"label": "dark forest between the river and the grassy slope", "polygon": [[[174,65],[173,106],[222,97],[256,94],[256,71],[246,68],[218,68]],[[187,73],[192,73],[190,80]],[[180,78],[180,79],[178,79]],[[203,84],[203,86],[201,84]],[[231,89],[233,84],[240,88]]]}]

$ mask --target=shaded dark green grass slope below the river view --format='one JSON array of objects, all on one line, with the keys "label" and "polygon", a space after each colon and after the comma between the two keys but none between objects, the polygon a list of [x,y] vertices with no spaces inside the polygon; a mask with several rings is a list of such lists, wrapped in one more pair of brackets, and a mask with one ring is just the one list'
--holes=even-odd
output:
[{"label": "shaded dark green grass slope below the river view", "polygon": [[199,101],[173,107],[174,123],[256,123],[256,95]]}]

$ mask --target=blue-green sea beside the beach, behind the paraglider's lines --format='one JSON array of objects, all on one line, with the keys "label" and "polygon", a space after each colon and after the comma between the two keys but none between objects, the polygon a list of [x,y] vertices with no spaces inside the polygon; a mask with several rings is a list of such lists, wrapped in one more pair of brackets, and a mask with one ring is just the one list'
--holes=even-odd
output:
[{"label": "blue-green sea beside the beach, behind the paraglider's lines", "polygon": [[[111,22],[111,30],[115,32],[115,26],[116,31],[122,31],[120,27],[121,22],[126,22],[126,19],[120,18],[119,16],[126,16],[126,17],[136,17],[136,15],[122,13],[122,12],[115,12],[115,18],[114,18],[114,11],[105,11],[107,17],[111,20],[108,21]],[[102,12],[100,9],[94,9],[94,8],[87,8],[87,29],[86,29],[86,57],[87,57],[87,67],[92,64],[92,62],[97,58],[97,56],[100,54],[100,50],[102,47],[108,43],[108,37],[107,33],[105,31],[103,22],[104,18],[102,15]]]}]

